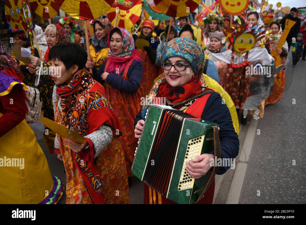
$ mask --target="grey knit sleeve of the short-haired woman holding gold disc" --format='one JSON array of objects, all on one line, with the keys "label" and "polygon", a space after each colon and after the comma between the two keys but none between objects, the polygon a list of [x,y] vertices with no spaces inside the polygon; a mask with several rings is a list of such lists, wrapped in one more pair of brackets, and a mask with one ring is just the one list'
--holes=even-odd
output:
[{"label": "grey knit sleeve of the short-haired woman holding gold disc", "polygon": [[98,130],[86,135],[85,138],[88,138],[94,144],[94,158],[96,158],[112,141],[113,132],[110,127],[102,125]]}]

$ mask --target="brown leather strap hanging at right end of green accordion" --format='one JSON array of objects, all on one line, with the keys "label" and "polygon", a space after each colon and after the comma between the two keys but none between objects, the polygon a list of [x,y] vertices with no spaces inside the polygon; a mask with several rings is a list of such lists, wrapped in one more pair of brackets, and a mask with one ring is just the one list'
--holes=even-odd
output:
[{"label": "brown leather strap hanging at right end of green accordion", "polygon": [[[213,129],[213,132],[214,132],[214,145],[215,145],[215,157],[217,157],[217,160],[218,158],[221,158],[221,146],[220,146],[220,139],[219,139],[219,129],[217,126],[213,125],[211,126],[212,129]],[[214,169],[212,171],[212,174],[210,176],[210,178],[208,179],[207,181],[207,184],[202,192],[202,194],[200,195],[200,197],[198,198],[198,201],[200,201],[200,199],[204,196],[205,192],[207,191],[208,187],[210,186],[212,180],[215,178],[215,175],[218,171],[218,166],[217,166],[217,160],[215,160],[215,166],[214,166]]]}]

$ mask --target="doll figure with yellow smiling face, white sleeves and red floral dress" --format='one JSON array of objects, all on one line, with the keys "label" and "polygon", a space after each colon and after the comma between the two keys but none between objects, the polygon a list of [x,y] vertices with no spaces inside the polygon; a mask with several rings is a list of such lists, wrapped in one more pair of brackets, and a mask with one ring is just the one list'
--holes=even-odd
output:
[{"label": "doll figure with yellow smiling face, white sleeves and red floral dress", "polygon": [[[252,27],[251,24],[242,25],[237,30],[231,31],[233,28],[227,28],[227,40],[233,45],[232,50],[226,50],[222,53],[212,54],[212,61],[223,61],[227,63],[227,75],[223,76],[223,88],[230,94],[236,108],[242,109],[250,88],[251,73],[247,73],[247,68],[252,62],[260,62],[262,65],[271,65],[272,59],[266,48],[261,45],[257,47],[254,43],[260,41],[265,32],[262,27],[257,25]],[[245,36],[250,43],[241,42]]]}]

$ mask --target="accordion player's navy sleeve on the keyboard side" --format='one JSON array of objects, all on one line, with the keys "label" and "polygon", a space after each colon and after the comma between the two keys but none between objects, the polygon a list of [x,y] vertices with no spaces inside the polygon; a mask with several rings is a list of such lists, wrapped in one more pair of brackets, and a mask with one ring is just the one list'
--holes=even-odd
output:
[{"label": "accordion player's navy sleeve on the keyboard side", "polygon": [[[222,104],[222,98],[219,93],[214,92],[209,96],[201,119],[208,120],[219,125],[222,159],[236,158],[239,153],[238,135],[235,132],[230,111],[226,104]],[[211,154],[214,154],[214,152],[211,152]],[[221,175],[229,168],[230,166],[221,167],[218,169],[217,174]]]}]

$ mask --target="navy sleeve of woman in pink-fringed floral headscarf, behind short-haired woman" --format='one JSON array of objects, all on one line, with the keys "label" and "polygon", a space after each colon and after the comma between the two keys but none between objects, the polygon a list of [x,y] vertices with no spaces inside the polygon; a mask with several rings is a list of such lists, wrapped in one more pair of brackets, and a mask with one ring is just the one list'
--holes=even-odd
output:
[{"label": "navy sleeve of woman in pink-fringed floral headscarf, behind short-haired woman", "polygon": [[[128,70],[128,80],[125,80],[121,76],[118,76],[114,73],[110,73],[107,75],[106,83],[122,92],[127,92],[129,94],[136,93],[142,80],[142,70],[142,62],[134,60]],[[97,72],[97,75],[99,76],[99,72]]]}]

